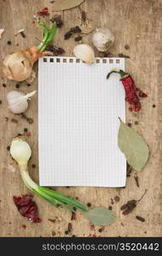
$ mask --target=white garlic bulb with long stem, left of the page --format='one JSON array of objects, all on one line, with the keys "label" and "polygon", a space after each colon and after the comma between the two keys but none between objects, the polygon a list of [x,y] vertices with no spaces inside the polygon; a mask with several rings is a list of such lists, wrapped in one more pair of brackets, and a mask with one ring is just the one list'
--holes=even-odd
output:
[{"label": "white garlic bulb with long stem, left of the page", "polygon": [[36,90],[24,94],[20,91],[11,90],[8,92],[7,100],[8,100],[8,108],[13,113],[24,113],[26,109],[28,108],[28,100],[31,99],[31,96],[33,96],[36,93]]}]

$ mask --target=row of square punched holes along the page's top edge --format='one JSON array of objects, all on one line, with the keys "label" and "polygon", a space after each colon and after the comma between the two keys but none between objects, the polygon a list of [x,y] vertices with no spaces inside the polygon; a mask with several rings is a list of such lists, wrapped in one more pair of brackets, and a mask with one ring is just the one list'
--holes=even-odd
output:
[{"label": "row of square punched holes along the page's top edge", "polygon": [[[53,63],[84,63],[75,57],[43,57],[43,62],[53,62]],[[95,63],[102,64],[120,64],[120,58],[95,58]]]}]

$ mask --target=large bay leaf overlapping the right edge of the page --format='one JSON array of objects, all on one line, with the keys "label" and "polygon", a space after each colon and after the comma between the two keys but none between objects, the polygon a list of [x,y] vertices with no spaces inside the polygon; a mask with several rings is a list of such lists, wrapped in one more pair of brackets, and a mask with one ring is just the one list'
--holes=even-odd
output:
[{"label": "large bay leaf overlapping the right edge of the page", "polygon": [[126,155],[128,164],[136,171],[141,171],[148,161],[149,149],[141,135],[120,121],[118,145]]}]

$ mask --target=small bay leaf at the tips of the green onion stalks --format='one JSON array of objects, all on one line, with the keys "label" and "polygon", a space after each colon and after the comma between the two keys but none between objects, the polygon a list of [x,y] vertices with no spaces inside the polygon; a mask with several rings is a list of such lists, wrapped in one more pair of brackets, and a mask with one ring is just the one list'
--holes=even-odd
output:
[{"label": "small bay leaf at the tips of the green onion stalks", "polygon": [[85,214],[93,224],[103,226],[112,224],[116,218],[114,212],[103,207],[95,207],[92,210],[87,211]]}]

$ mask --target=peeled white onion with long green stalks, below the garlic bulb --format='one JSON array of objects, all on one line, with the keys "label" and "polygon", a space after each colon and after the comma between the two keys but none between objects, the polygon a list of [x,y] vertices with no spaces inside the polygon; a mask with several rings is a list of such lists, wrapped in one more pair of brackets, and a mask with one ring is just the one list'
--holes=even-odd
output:
[{"label": "peeled white onion with long green stalks, below the garlic bulb", "polygon": [[[44,47],[44,46],[42,46]],[[63,206],[70,211],[74,211],[73,207],[87,212],[87,208],[82,206],[78,201],[63,195],[53,189],[47,189],[35,183],[28,172],[28,160],[31,158],[31,147],[25,141],[25,137],[15,137],[11,143],[10,154],[18,163],[20,175],[27,186],[33,193],[48,201],[53,207]]]}]

